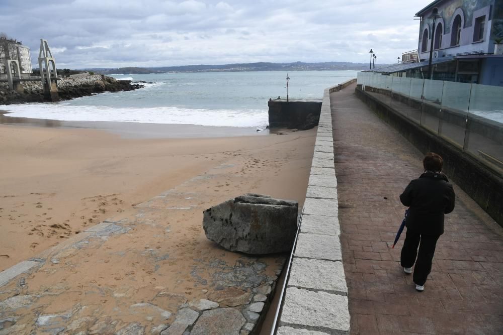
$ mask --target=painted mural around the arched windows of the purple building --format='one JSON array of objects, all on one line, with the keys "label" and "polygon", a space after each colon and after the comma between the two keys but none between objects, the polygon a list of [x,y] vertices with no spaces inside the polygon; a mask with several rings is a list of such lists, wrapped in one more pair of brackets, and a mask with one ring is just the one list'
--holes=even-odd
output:
[{"label": "painted mural around the arched windows of the purple building", "polygon": [[[496,3],[501,3],[503,0],[496,0]],[[451,22],[454,19],[454,12],[458,8],[461,8],[464,16],[464,26],[463,28],[471,27],[473,24],[473,12],[479,10],[481,8],[487,7],[492,3],[492,0],[453,0],[451,2],[444,2],[440,4],[437,8],[439,10],[439,14],[442,16],[445,22],[444,27],[444,35],[450,34],[451,32]],[[495,6],[498,7],[498,6]],[[433,10],[433,8],[432,8]],[[499,11],[503,11],[501,6],[498,8]],[[432,29],[431,20],[428,19],[432,11],[427,12],[427,14],[423,17],[423,22],[421,24],[421,32],[420,32],[420,40],[422,40],[423,32],[425,31],[426,25],[428,25],[430,31]],[[496,16],[494,16],[496,17]],[[502,17],[503,19],[503,17]]]}]

